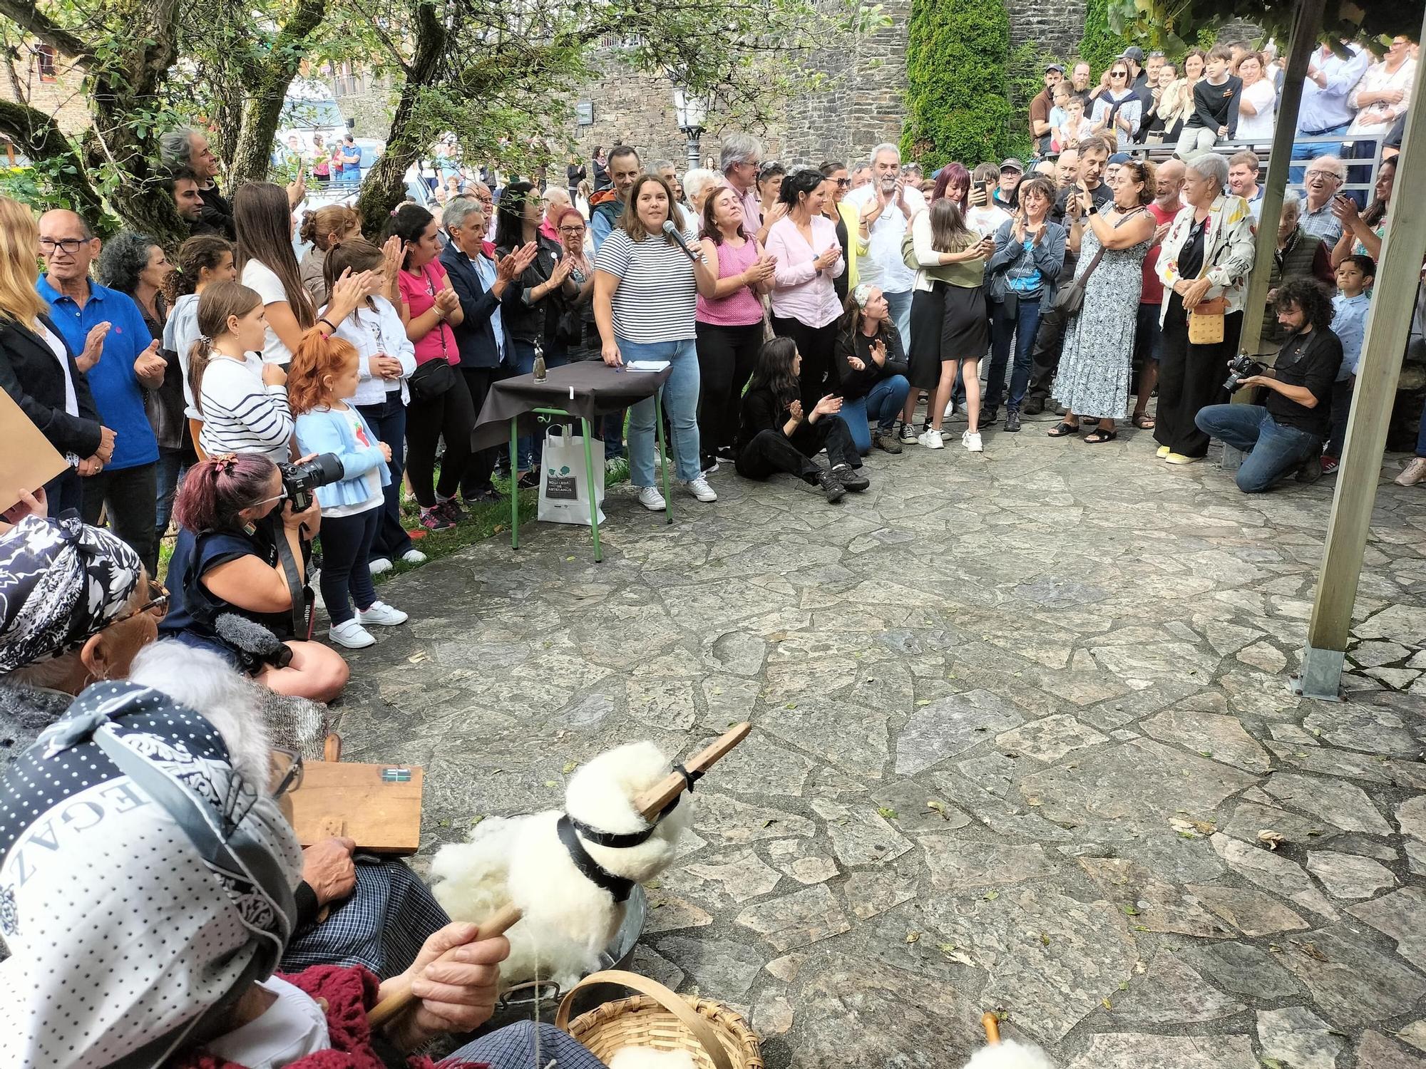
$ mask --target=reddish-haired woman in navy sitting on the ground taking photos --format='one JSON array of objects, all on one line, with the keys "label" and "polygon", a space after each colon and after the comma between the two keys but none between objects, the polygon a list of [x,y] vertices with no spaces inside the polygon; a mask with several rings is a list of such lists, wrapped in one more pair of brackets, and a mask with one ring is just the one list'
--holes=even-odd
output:
[{"label": "reddish-haired woman in navy sitting on the ground taking photos", "polygon": [[212,650],[278,694],[331,701],[347,686],[347,661],[298,640],[292,621],[292,587],[307,582],[302,542],[317,534],[322,512],[315,499],[301,512],[292,506],[282,470],[261,453],[225,453],[190,468],[174,502],[178,542],[160,631]]}]

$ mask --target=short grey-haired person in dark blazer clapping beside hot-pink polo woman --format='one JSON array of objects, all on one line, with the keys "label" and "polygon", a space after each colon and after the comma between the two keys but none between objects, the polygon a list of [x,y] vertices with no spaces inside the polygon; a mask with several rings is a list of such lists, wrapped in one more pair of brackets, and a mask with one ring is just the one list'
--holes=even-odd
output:
[{"label": "short grey-haired person in dark blazer clapping beside hot-pink polo woman", "polygon": [[[516,249],[499,261],[485,241],[485,205],[475,197],[456,197],[442,215],[451,244],[441,251],[441,265],[451,278],[451,286],[461,298],[465,318],[452,325],[456,348],[461,351],[461,373],[471,389],[471,402],[479,416],[491,383],[512,373],[513,342],[502,312],[519,299],[518,278],[535,259],[535,242]],[[471,458],[461,496],[466,502],[493,500],[495,449],[482,449]]]}]

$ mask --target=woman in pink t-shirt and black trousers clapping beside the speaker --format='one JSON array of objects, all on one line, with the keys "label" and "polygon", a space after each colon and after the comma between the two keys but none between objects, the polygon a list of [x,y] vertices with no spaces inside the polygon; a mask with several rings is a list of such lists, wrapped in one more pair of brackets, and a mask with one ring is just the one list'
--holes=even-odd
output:
[{"label": "woman in pink t-shirt and black trousers clapping beside the speaker", "polygon": [[699,442],[703,472],[733,459],[743,386],[763,344],[761,295],[773,288],[773,259],[743,228],[743,204],[732,185],[703,200],[703,255],[717,277],[712,298],[699,295]]}]

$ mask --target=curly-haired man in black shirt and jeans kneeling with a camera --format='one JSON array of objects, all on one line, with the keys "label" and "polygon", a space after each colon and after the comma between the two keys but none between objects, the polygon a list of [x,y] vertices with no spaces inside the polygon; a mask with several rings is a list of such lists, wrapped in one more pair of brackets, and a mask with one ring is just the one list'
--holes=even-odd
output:
[{"label": "curly-haired man in black shirt and jeans kneeling with a camera", "polygon": [[1225,383],[1229,392],[1263,386],[1265,403],[1208,405],[1194,420],[1205,435],[1248,453],[1236,476],[1243,493],[1262,493],[1291,472],[1299,482],[1313,482],[1322,475],[1322,442],[1332,429],[1332,383],[1342,365],[1342,342],[1330,329],[1332,302],[1318,282],[1293,279],[1278,289],[1273,309],[1291,331],[1276,363],[1268,371],[1238,358]]}]

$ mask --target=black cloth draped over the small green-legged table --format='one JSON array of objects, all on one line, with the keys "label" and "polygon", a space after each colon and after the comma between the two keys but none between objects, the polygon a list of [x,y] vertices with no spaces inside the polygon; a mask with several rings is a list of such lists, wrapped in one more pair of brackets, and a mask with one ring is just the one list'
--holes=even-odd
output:
[{"label": "black cloth draped over the small green-legged table", "polygon": [[511,440],[511,420],[519,419],[519,433],[533,435],[538,408],[558,408],[593,422],[595,416],[619,412],[652,398],[673,366],[663,371],[625,371],[603,361],[579,361],[550,368],[543,382],[533,375],[515,375],[491,385],[481,415],[471,432],[471,449],[491,449]]}]

